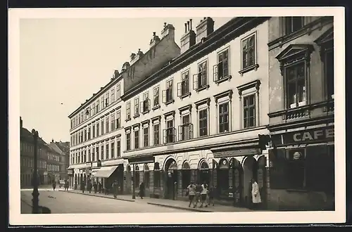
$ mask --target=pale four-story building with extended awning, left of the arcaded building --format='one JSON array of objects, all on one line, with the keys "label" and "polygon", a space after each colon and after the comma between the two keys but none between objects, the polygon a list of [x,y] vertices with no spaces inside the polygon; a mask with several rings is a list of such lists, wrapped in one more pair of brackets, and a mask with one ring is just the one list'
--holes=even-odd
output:
[{"label": "pale four-story building with extended awning, left of the arcaded building", "polygon": [[[122,73],[129,64],[122,65]],[[77,188],[81,181],[101,181],[111,186],[117,179],[122,185],[126,163],[122,159],[122,74],[115,70],[111,81],[82,103],[69,115],[70,166],[68,167],[71,188]],[[97,171],[100,171],[98,174]]]}]

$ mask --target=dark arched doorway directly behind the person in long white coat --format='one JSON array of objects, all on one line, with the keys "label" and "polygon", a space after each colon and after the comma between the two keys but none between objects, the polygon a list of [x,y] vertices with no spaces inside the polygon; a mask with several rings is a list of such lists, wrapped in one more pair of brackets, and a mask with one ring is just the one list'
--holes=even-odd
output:
[{"label": "dark arched doorway directly behind the person in long white coat", "polygon": [[249,181],[251,179],[255,179],[257,181],[257,161],[253,156],[244,157],[243,161],[243,169],[244,169],[244,202],[247,206],[251,207],[252,202],[252,185]]}]

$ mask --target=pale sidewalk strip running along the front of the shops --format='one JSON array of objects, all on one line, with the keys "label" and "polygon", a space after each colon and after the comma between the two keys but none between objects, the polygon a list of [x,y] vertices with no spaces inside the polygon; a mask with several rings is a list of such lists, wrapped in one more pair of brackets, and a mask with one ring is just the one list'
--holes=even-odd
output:
[{"label": "pale sidewalk strip running along the front of the shops", "polygon": [[[59,190],[63,191],[63,190]],[[105,195],[104,193],[89,193],[84,191],[78,191],[78,190],[73,190],[70,189],[68,190],[68,193],[76,193],[76,194],[82,194],[82,195],[92,195],[95,197],[100,197],[100,198],[111,198],[113,199],[113,195]],[[250,212],[252,210],[249,210],[244,207],[232,207],[232,206],[226,206],[226,205],[215,205],[215,206],[209,206],[209,207],[203,207],[203,208],[193,208],[193,207],[188,207],[188,202],[184,200],[168,200],[168,199],[157,199],[157,198],[144,198],[141,199],[136,195],[136,199],[132,199],[132,195],[118,195],[116,200],[125,200],[129,202],[138,202],[138,203],[144,203],[144,204],[149,204],[149,205],[158,205],[162,207],[172,207],[175,209],[180,209],[180,210],[189,210],[193,212]]]}]

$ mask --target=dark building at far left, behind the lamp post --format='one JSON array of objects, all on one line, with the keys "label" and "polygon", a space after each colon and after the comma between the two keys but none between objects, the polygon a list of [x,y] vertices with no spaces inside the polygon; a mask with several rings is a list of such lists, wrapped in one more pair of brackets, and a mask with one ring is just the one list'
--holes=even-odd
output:
[{"label": "dark building at far left, behind the lamp post", "polygon": [[[38,183],[46,184],[48,148],[42,138],[38,138]],[[21,188],[32,186],[34,171],[34,139],[30,131],[23,128],[23,121],[20,118],[20,186]]]}]

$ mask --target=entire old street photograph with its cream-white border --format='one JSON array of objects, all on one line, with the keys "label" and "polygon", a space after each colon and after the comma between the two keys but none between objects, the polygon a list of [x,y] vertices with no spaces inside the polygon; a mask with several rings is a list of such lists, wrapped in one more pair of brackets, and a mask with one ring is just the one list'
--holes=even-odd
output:
[{"label": "entire old street photograph with its cream-white border", "polygon": [[344,8],[8,15],[11,224],[346,220]]}]

